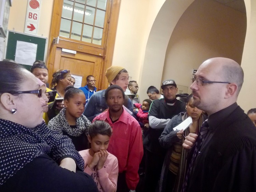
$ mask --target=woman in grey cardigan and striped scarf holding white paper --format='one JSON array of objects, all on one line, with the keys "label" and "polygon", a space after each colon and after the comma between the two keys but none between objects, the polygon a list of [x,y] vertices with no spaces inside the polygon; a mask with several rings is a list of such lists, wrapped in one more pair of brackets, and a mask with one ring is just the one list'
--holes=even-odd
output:
[{"label": "woman in grey cardigan and striped scarf holding white paper", "polygon": [[[189,133],[197,133],[206,120],[203,111],[193,105],[193,95],[189,95],[186,101],[186,112],[174,116],[166,125],[159,137],[160,145],[168,149],[162,166],[159,192],[180,192],[186,175],[187,151],[182,147],[184,137]],[[188,117],[192,118],[192,124],[183,131],[174,131],[177,125]]]}]

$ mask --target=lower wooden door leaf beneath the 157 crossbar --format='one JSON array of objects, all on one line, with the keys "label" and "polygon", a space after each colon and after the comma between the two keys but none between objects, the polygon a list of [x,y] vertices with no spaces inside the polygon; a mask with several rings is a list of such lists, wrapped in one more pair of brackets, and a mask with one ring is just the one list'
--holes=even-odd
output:
[{"label": "lower wooden door leaf beneath the 157 crossbar", "polygon": [[[71,54],[61,50],[62,48],[56,49],[54,71],[68,69],[71,74],[82,76],[82,87],[86,85],[86,77],[93,75],[97,80],[96,87],[98,90],[101,90],[101,86],[99,87],[99,85],[104,76],[102,74],[102,57],[82,52]],[[52,76],[52,74],[49,75]]]}]

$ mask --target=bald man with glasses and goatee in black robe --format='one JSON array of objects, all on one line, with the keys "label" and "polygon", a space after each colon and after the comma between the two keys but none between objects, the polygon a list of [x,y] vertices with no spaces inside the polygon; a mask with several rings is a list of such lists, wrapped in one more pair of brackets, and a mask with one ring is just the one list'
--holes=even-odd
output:
[{"label": "bald man with glasses and goatee in black robe", "polygon": [[182,191],[256,191],[256,129],[237,104],[243,77],[228,58],[208,59],[195,73],[193,105],[209,117],[183,143],[190,151]]}]

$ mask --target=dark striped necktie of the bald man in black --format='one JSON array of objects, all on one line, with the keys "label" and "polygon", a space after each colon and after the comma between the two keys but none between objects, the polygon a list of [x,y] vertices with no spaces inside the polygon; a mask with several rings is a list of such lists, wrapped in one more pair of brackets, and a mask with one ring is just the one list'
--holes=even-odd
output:
[{"label": "dark striped necktie of the bald man in black", "polygon": [[194,152],[193,152],[193,156],[192,156],[192,159],[189,163],[189,166],[188,166],[188,170],[187,170],[187,175],[186,175],[186,178],[185,178],[185,181],[183,183],[183,186],[182,186],[182,192],[185,192],[187,191],[187,185],[188,185],[188,181],[189,181],[189,176],[191,174],[191,170],[194,166],[194,162],[196,160],[196,157],[197,157],[197,154],[203,144],[203,141],[208,133],[208,129],[209,129],[209,124],[208,124],[208,119],[205,120],[200,128],[200,131],[199,131],[199,134],[198,134],[198,137],[197,137],[197,141],[195,143],[195,148],[194,148]]}]

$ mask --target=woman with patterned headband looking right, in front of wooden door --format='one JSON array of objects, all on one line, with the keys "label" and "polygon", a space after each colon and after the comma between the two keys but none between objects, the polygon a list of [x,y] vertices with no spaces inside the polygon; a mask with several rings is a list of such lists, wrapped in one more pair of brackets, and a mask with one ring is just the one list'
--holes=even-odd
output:
[{"label": "woman with patterned headband looking right, in front of wooden door", "polygon": [[[56,90],[59,97],[64,98],[65,95],[65,88],[68,86],[73,86],[73,80],[71,77],[71,73],[69,70],[58,70],[53,73],[53,79],[51,83],[52,90]],[[64,108],[63,101],[57,102],[56,107],[54,103],[49,104],[49,109],[47,112],[49,120],[54,118],[56,115],[59,114],[60,110]]]}]

